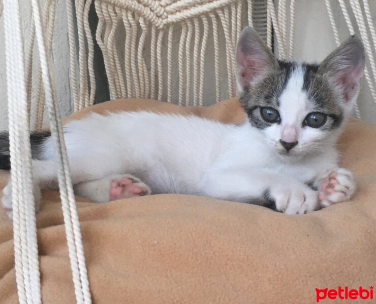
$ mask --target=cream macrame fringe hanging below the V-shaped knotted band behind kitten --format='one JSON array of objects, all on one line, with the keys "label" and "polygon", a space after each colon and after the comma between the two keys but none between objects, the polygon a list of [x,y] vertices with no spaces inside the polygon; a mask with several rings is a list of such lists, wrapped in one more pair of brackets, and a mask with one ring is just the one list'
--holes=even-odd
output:
[{"label": "cream macrame fringe hanging below the V-shaped knotted band behind kitten", "polygon": [[[130,3],[95,2],[99,18],[96,38],[104,56],[111,99],[143,97],[180,105],[202,105],[206,90],[215,94],[213,102],[235,96],[234,53],[245,25],[241,23],[243,8],[252,15],[252,2],[239,0],[218,5],[220,3],[223,1],[209,5],[202,14],[196,12],[187,16],[191,13],[176,13],[179,8],[185,8],[186,3],[171,2],[166,12],[175,14],[165,16],[166,24],[162,24],[152,17],[153,14],[163,15],[156,7],[152,14],[145,8],[141,10],[136,3],[130,7]],[[252,22],[252,16],[247,20]],[[209,39],[210,31],[214,33],[212,40]],[[125,36],[121,49],[114,43],[119,33]],[[220,33],[225,36],[226,54],[220,54]],[[177,39],[176,47],[174,39]],[[165,44],[167,52],[163,52]],[[209,44],[214,50],[215,89],[209,87],[204,77],[205,62],[213,57],[207,53]],[[220,55],[225,55],[226,66],[219,64]],[[227,90],[221,94],[222,74],[227,75]]]}]

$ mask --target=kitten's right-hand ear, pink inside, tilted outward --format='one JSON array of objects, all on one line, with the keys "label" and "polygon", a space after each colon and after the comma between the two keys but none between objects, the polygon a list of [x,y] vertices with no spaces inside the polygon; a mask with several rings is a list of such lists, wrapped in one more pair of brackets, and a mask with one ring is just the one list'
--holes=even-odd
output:
[{"label": "kitten's right-hand ear, pink inside, tilted outward", "polygon": [[354,101],[365,65],[365,53],[361,40],[352,35],[320,64],[322,73],[345,102]]}]

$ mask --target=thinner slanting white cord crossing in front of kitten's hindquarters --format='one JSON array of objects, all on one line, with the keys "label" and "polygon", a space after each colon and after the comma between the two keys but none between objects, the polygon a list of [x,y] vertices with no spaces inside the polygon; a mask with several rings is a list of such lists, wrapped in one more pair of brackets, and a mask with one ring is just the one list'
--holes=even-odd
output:
[{"label": "thinner slanting white cord crossing in front of kitten's hindquarters", "polygon": [[[38,0],[32,0],[38,50],[42,67],[43,85],[50,118],[51,136],[55,142],[55,158],[58,164],[57,177],[68,241],[69,258],[73,273],[73,283],[78,303],[91,303],[89,283],[86,273],[85,256],[81,240],[80,223],[73,194],[73,186],[68,165],[67,150],[59,120],[58,106],[54,98],[49,60],[42,33]],[[28,136],[28,134],[27,134]]]}]

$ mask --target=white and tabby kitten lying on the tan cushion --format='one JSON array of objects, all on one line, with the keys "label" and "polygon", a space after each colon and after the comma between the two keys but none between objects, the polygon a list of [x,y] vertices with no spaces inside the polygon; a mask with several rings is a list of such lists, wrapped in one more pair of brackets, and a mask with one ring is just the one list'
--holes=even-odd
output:
[{"label": "white and tabby kitten lying on the tan cushion", "polygon": [[[236,60],[248,117],[242,125],[146,111],[91,113],[67,123],[76,194],[96,202],[150,193],[200,195],[288,214],[350,199],[354,177],[338,168],[336,141],[364,69],[358,37],[316,65],[277,60],[247,27]],[[57,170],[49,134],[32,138],[39,198],[40,186],[57,187]],[[9,168],[8,137],[0,139],[0,165]],[[10,183],[2,202],[11,215]]]}]

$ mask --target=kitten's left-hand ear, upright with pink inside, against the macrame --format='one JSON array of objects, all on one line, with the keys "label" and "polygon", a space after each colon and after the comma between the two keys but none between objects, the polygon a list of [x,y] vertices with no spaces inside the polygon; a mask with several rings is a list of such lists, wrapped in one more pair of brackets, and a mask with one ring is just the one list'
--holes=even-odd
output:
[{"label": "kitten's left-hand ear, upright with pink inside, against the macrame", "polygon": [[273,53],[252,27],[244,28],[240,34],[236,61],[239,91],[252,87],[279,67]]}]

